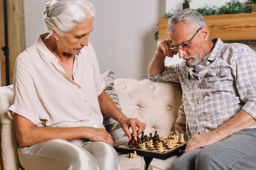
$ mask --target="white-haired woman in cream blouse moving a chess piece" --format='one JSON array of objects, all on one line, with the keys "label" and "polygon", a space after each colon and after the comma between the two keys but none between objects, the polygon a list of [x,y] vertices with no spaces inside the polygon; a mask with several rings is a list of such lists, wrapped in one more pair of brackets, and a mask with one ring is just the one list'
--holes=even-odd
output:
[{"label": "white-haired woman in cream blouse moving a chess piece", "polygon": [[88,41],[94,6],[86,0],[46,4],[49,33],[22,52],[15,66],[14,102],[20,163],[26,170],[118,170],[120,163],[103,116],[117,120],[129,139],[146,127],[127,118],[103,90]]}]

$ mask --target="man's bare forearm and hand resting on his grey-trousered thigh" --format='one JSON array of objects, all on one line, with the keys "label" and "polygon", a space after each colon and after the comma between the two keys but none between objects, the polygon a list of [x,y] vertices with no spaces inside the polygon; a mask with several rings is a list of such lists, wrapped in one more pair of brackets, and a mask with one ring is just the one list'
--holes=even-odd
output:
[{"label": "man's bare forearm and hand resting on his grey-trousered thigh", "polygon": [[217,129],[207,133],[194,135],[186,144],[185,152],[220,142],[236,131],[240,131],[255,124],[256,120],[252,118],[252,116],[247,112],[240,110],[233,118],[219,126]]}]

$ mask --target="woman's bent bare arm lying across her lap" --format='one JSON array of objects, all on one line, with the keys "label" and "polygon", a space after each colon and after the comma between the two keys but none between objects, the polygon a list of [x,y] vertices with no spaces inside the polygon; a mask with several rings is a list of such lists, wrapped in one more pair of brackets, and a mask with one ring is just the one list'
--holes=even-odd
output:
[{"label": "woman's bent bare arm lying across her lap", "polygon": [[113,146],[111,135],[106,129],[93,127],[37,127],[30,120],[14,114],[16,137],[20,146],[32,146],[52,139],[65,139],[68,141],[74,139],[89,139],[90,141],[106,142]]}]

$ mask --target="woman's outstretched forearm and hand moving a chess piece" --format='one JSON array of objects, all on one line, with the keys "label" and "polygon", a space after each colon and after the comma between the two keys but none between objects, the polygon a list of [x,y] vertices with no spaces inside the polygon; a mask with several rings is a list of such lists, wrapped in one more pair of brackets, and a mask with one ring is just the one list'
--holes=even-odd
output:
[{"label": "woman's outstretched forearm and hand moving a chess piece", "polygon": [[[124,113],[115,105],[110,96],[103,90],[102,93],[98,96],[99,106],[101,112],[107,116],[115,119],[121,125],[122,129],[128,136],[129,140],[132,139],[129,128],[132,128],[132,133],[135,140],[137,140],[137,135],[141,134],[142,131],[146,128],[146,124],[137,120],[137,118],[127,118]],[[138,128],[138,130],[137,130]]]}]

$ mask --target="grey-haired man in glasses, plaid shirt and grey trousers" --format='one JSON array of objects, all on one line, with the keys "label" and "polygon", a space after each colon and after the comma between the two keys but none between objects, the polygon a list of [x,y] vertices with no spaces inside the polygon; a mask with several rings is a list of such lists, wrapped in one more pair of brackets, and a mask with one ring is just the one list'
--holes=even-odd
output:
[{"label": "grey-haired man in glasses, plaid shirt and grey trousers", "polygon": [[[178,11],[150,64],[152,81],[180,83],[189,141],[173,170],[256,169],[256,52],[210,39],[202,15]],[[165,66],[166,56],[184,61]]]}]

